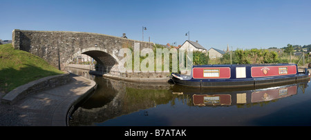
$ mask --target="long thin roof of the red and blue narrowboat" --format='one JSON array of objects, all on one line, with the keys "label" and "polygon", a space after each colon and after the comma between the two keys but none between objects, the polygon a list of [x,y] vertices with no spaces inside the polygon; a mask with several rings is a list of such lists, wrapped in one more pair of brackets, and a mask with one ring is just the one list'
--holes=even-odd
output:
[{"label": "long thin roof of the red and blue narrowboat", "polygon": [[217,65],[197,65],[194,68],[202,67],[231,67],[231,66],[297,66],[296,63],[256,63],[256,64],[217,64]]}]

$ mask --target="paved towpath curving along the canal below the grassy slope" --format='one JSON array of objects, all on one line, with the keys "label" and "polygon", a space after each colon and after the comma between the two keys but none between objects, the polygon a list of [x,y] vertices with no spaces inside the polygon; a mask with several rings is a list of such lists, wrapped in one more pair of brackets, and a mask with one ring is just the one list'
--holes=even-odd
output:
[{"label": "paved towpath curving along the canal below the grassy slope", "polygon": [[30,94],[13,105],[0,103],[0,126],[66,126],[70,107],[96,86],[84,77],[70,78],[66,85]]}]

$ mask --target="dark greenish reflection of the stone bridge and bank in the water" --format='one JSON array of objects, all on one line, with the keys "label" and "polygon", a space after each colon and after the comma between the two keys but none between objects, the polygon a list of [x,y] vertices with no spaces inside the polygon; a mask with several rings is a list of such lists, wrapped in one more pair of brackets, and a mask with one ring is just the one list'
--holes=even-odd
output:
[{"label": "dark greenish reflection of the stone bridge and bank in the water", "polygon": [[93,95],[75,110],[70,126],[75,126],[75,122],[88,126],[92,122],[103,122],[123,114],[153,108],[157,104],[169,103],[172,99],[169,83],[127,82],[94,77],[87,70],[67,70],[93,79],[98,85]]}]

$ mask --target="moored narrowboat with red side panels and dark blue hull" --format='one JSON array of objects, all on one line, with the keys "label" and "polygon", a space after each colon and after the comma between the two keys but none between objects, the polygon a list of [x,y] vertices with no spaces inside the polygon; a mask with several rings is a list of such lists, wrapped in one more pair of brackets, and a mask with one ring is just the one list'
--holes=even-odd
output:
[{"label": "moored narrowboat with red side panels and dark blue hull", "polygon": [[242,88],[310,80],[295,63],[192,66],[191,74],[172,73],[173,83],[200,88]]}]

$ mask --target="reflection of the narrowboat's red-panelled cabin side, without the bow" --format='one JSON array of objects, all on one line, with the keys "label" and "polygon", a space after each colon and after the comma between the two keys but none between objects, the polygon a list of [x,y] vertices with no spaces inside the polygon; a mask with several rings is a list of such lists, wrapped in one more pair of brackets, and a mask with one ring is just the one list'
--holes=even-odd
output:
[{"label": "reflection of the narrowboat's red-panelled cabin side, without the bow", "polygon": [[292,84],[288,86],[279,86],[274,88],[264,88],[260,90],[245,90],[236,92],[223,92],[220,94],[202,93],[193,94],[194,106],[231,106],[234,104],[260,103],[263,101],[272,101],[290,97],[297,94],[299,86],[303,89],[307,83]]}]

